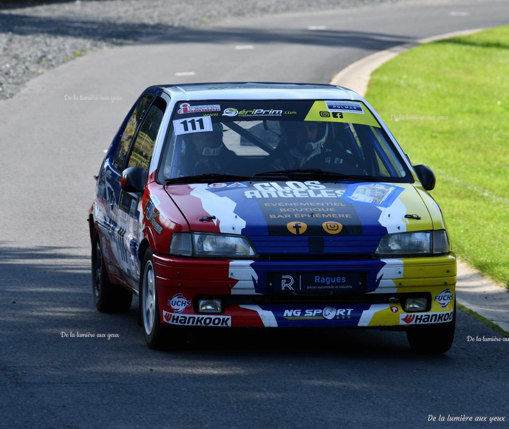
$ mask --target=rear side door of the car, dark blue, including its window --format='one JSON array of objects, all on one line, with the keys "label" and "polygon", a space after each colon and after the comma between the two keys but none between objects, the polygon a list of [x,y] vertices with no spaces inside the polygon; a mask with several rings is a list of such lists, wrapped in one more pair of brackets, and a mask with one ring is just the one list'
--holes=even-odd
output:
[{"label": "rear side door of the car, dark blue, including its window", "polygon": [[133,105],[104,159],[99,177],[96,197],[95,219],[101,232],[103,255],[109,272],[125,281],[121,271],[127,266],[123,248],[118,245],[118,206],[120,202],[120,175],[134,136],[154,100],[154,95],[141,96]]}]

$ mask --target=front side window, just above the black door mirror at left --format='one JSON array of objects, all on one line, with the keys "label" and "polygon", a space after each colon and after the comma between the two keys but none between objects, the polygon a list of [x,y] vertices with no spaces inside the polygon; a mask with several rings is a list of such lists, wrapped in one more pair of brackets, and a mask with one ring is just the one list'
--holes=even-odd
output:
[{"label": "front side window, just above the black door mirror at left", "polygon": [[166,103],[161,98],[157,98],[150,107],[134,141],[129,163],[127,164],[128,167],[147,168],[149,166],[149,159],[154,150],[157,132],[161,126],[165,109]]}]

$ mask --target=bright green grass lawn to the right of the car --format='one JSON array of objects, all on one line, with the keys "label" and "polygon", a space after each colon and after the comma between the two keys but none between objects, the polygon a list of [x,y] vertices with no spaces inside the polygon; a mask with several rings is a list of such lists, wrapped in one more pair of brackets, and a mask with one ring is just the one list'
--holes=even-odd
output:
[{"label": "bright green grass lawn to the right of the car", "polygon": [[508,58],[509,26],[417,46],[376,70],[366,94],[412,164],[434,170],[456,253],[506,285]]}]

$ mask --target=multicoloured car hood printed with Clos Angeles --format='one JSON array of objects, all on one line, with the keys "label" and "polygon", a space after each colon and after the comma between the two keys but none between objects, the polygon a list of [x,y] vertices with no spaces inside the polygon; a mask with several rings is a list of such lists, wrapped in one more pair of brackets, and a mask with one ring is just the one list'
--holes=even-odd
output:
[{"label": "multicoloured car hood printed with Clos Angeles", "polygon": [[408,183],[229,182],[165,189],[191,231],[243,234],[259,253],[373,253],[384,234],[433,229],[425,203]]}]

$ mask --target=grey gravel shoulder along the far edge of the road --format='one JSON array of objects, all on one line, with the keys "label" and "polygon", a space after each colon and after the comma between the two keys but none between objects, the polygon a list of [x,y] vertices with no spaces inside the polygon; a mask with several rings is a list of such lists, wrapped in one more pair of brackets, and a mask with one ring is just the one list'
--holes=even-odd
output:
[{"label": "grey gravel shoulder along the far edge of the road", "polygon": [[[444,3],[421,0],[419,3]],[[176,28],[274,13],[405,5],[405,0],[106,0],[0,7],[0,99],[81,55]],[[450,3],[450,2],[447,2]]]}]

